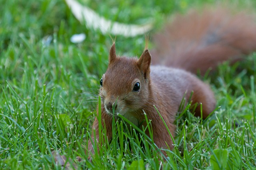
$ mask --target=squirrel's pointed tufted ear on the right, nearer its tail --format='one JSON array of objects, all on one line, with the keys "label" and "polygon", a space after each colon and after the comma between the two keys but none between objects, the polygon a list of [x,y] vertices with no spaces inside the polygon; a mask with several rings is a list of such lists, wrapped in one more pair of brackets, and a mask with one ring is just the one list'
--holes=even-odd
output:
[{"label": "squirrel's pointed tufted ear on the right, nearer its tail", "polygon": [[140,70],[143,71],[145,78],[149,78],[150,74],[150,64],[151,64],[151,55],[149,51],[146,49],[142,55],[140,56],[140,59],[138,60],[138,66]]}]

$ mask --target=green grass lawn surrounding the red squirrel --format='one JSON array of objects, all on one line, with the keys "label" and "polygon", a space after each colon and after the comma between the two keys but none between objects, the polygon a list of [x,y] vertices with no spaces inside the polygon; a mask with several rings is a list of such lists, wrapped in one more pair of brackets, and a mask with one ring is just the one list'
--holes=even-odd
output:
[{"label": "green grass lawn surrounding the red squirrel", "polygon": [[[172,13],[203,2],[83,3],[106,18],[136,24],[154,18],[161,25]],[[256,7],[253,0],[235,2]],[[79,169],[159,169],[160,165],[163,169],[255,169],[256,53],[233,66],[224,63],[202,78],[210,82],[219,108],[204,121],[188,109],[177,115],[177,135],[174,149],[167,151],[168,161],[161,161],[152,138],[143,131],[138,135],[123,121],[115,121],[113,142],[106,143],[90,162],[84,148],[112,40],[81,25],[62,0],[0,0],[0,4],[0,169],[60,169],[53,150],[71,163],[80,156]],[[86,40],[71,43],[75,33],[85,33]],[[53,40],[44,45],[42,40],[48,36]],[[116,42],[119,54],[140,55],[144,49],[143,35],[120,36]]]}]

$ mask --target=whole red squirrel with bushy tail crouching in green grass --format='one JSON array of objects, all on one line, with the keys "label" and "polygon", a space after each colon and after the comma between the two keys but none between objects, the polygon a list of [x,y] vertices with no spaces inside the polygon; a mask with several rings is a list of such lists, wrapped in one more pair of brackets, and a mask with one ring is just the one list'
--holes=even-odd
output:
[{"label": "whole red squirrel with bushy tail crouching in green grass", "polygon": [[[171,25],[154,36],[156,49],[145,49],[139,59],[118,57],[115,43],[110,49],[108,68],[100,79],[101,123],[108,141],[112,138],[112,117],[121,114],[134,124],[151,120],[154,143],[160,149],[172,149],[174,119],[185,95],[188,102],[202,104],[205,119],[216,107],[210,86],[193,73],[204,74],[226,60],[234,61],[256,50],[256,24],[243,12],[227,9],[191,11],[178,15]],[[154,65],[151,65],[153,63]],[[114,111],[113,111],[114,109]],[[97,109],[98,111],[98,109]],[[195,110],[200,116],[200,106]],[[99,140],[99,121],[94,120],[92,140]],[[149,134],[147,134],[149,135]],[[86,152],[94,153],[89,141]],[[165,154],[165,152],[163,152]]]}]

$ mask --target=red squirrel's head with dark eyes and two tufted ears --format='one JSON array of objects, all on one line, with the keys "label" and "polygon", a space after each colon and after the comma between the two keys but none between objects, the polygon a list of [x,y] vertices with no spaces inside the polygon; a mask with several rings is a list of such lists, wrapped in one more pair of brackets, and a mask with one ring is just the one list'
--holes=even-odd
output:
[{"label": "red squirrel's head with dark eyes and two tufted ears", "polygon": [[117,57],[115,44],[108,69],[100,79],[102,107],[111,115],[136,115],[147,104],[151,56],[146,49],[139,59]]}]

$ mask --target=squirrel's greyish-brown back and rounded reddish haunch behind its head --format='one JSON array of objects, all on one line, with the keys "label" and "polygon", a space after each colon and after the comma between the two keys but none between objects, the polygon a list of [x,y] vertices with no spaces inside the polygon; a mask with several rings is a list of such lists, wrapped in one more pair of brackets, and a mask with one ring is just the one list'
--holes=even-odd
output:
[{"label": "squirrel's greyish-brown back and rounded reddish haunch behind its head", "polygon": [[158,95],[162,99],[159,102],[166,103],[164,104],[166,108],[170,107],[178,111],[178,107],[182,106],[182,100],[186,106],[191,99],[192,105],[198,105],[195,110],[196,116],[201,116],[199,105],[203,104],[202,116],[205,119],[216,107],[214,93],[210,86],[192,73],[179,68],[151,66],[150,79],[152,86],[156,86],[154,89],[157,88]]}]

